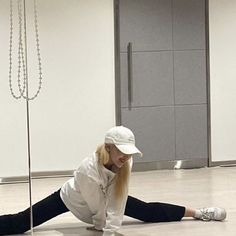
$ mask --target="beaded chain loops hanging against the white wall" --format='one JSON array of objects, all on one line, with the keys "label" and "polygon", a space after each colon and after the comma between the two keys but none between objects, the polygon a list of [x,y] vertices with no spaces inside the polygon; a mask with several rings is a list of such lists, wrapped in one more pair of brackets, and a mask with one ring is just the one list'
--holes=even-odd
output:
[{"label": "beaded chain loops hanging against the white wall", "polygon": [[[36,0],[34,0],[34,27],[35,27],[35,39],[36,39],[36,50],[37,50],[37,59],[38,59],[38,70],[39,70],[39,84],[38,89],[32,97],[27,97],[25,95],[26,90],[26,65],[25,65],[25,53],[23,48],[23,39],[22,39],[22,0],[18,0],[18,23],[19,23],[19,37],[18,37],[18,72],[17,72],[17,84],[20,95],[16,95],[12,87],[12,49],[13,49],[13,3],[10,0],[10,45],[9,45],[9,87],[12,96],[15,99],[20,99],[23,97],[27,100],[35,99],[41,91],[42,88],[42,63],[41,63],[41,54],[40,54],[40,44],[39,44],[39,33],[38,33],[38,12]],[[24,28],[24,38],[26,37],[26,29]],[[26,47],[26,45],[24,45]],[[23,68],[23,72],[22,72]],[[23,73],[23,82],[21,81],[21,73]],[[22,88],[23,83],[23,88]]]}]

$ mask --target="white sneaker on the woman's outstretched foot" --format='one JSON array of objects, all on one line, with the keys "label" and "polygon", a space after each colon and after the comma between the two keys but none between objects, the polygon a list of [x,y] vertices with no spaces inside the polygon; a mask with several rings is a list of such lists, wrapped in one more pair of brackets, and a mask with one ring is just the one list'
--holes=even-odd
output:
[{"label": "white sneaker on the woman's outstretched foot", "polygon": [[203,221],[210,221],[210,220],[222,221],[226,218],[226,211],[224,208],[219,208],[219,207],[201,208],[197,210],[195,218]]}]

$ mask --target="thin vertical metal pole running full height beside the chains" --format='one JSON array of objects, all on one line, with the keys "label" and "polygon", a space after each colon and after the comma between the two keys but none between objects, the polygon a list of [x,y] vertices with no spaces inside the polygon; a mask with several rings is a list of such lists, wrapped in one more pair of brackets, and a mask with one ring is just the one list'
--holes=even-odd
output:
[{"label": "thin vertical metal pole running full height beside the chains", "polygon": [[30,201],[30,230],[33,235],[33,208],[32,208],[32,183],[31,183],[31,156],[30,156],[30,109],[28,93],[28,66],[27,66],[27,35],[26,35],[26,4],[24,0],[24,36],[25,36],[25,72],[26,72],[26,121],[27,121],[27,146],[28,146],[28,167],[29,167],[29,201]]}]

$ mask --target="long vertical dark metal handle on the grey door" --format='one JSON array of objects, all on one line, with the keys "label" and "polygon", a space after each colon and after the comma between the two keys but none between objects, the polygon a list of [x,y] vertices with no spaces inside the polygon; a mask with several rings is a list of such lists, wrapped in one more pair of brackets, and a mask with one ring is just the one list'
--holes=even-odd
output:
[{"label": "long vertical dark metal handle on the grey door", "polygon": [[128,108],[132,109],[133,102],[133,62],[132,62],[132,43],[127,46],[127,62],[128,62]]}]

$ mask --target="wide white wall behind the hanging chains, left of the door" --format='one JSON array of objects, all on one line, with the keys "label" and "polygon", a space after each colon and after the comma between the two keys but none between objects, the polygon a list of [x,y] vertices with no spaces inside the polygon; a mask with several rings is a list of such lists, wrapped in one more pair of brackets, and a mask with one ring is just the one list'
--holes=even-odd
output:
[{"label": "wide white wall behind the hanging chains, left of the door", "polygon": [[[31,2],[30,95],[37,87]],[[30,102],[32,170],[72,170],[115,124],[113,1],[38,0],[38,8],[43,87]],[[0,40],[0,177],[21,176],[27,174],[26,105],[8,87],[9,0],[0,0]]]}]

